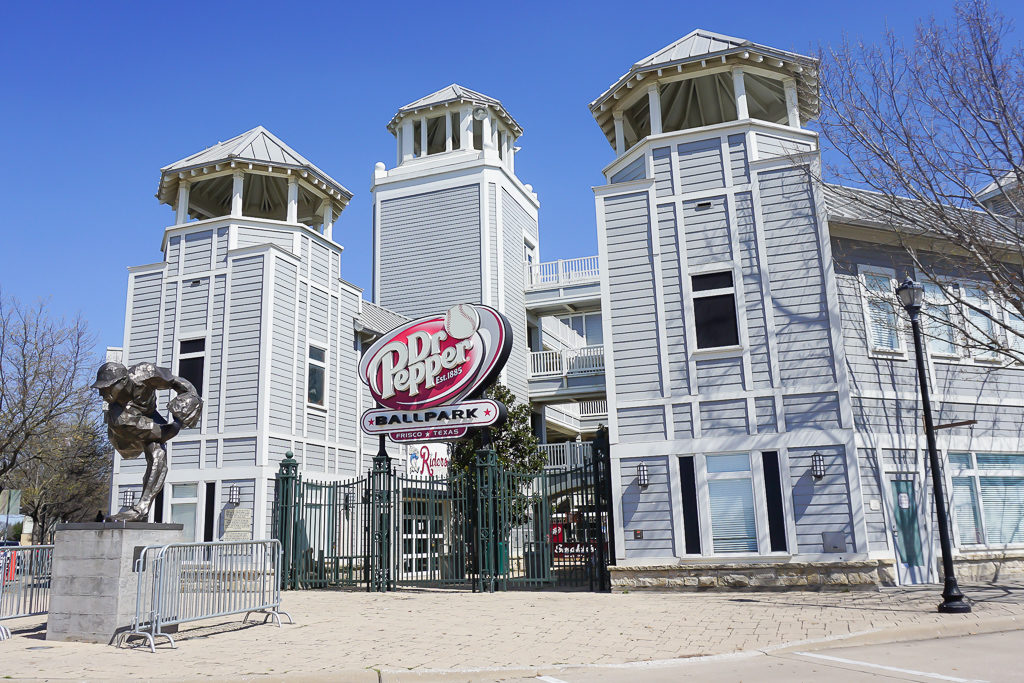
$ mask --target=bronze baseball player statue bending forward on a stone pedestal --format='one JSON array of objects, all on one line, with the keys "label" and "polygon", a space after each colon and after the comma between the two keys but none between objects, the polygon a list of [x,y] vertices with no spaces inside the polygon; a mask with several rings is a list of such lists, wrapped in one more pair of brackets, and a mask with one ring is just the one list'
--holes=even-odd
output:
[{"label": "bronze baseball player statue bending forward on a stone pedestal", "polygon": [[[164,487],[167,477],[167,451],[164,443],[182,427],[199,424],[203,399],[196,387],[166,368],[140,362],[125,368],[120,362],[104,362],[96,373],[92,388],[109,403],[106,433],[122,458],[145,454],[142,496],[126,510],[108,517],[109,521],[145,521],[153,499]],[[167,403],[172,422],[157,412],[157,391],[173,389],[177,395]]]}]

